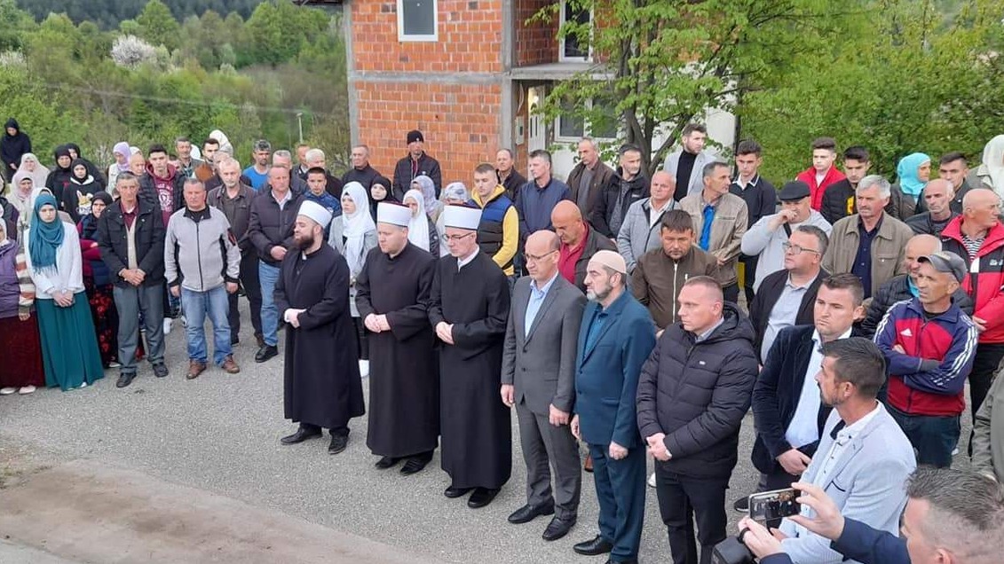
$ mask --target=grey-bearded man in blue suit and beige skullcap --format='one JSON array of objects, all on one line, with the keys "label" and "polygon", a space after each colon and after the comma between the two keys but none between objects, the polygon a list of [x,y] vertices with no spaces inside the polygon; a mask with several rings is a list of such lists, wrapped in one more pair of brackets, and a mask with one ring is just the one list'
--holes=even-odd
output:
[{"label": "grey-bearded man in blue suit and beige skullcap", "polygon": [[638,562],[645,517],[645,444],[635,418],[642,364],[656,346],[649,311],[625,291],[628,265],[598,251],[585,272],[588,305],[575,361],[571,431],[589,446],[599,498],[599,534],[576,544],[578,554],[610,553],[607,564]]}]

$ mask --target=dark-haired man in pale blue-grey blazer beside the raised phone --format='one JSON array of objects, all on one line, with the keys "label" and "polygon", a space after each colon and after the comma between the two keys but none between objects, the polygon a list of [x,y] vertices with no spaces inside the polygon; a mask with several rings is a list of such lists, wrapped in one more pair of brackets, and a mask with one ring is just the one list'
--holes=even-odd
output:
[{"label": "dark-haired man in pale blue-grey blazer beside the raised phone", "polygon": [[[821,400],[833,410],[801,480],[822,488],[843,517],[899,536],[907,505],[904,484],[917,461],[910,440],[875,399],[886,381],[882,351],[865,338],[850,337],[823,344],[821,354],[816,382]],[[805,416],[814,420],[816,412]],[[801,514],[814,517],[804,505]],[[781,546],[795,564],[845,561],[829,539],[788,519],[780,532],[787,537]]]}]

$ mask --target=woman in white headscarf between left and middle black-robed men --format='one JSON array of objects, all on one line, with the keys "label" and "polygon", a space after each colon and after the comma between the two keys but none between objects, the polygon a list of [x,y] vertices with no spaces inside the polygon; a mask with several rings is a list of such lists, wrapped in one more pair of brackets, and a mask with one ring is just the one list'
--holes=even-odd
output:
[{"label": "woman in white headscarf between left and middle black-robed men", "polygon": [[366,328],[355,307],[355,277],[366,264],[366,255],[376,247],[376,224],[369,216],[369,198],[366,189],[357,182],[341,187],[341,215],[331,220],[331,233],[327,244],[345,257],[348,263],[348,308],[358,334],[359,373],[369,373],[369,347]]}]

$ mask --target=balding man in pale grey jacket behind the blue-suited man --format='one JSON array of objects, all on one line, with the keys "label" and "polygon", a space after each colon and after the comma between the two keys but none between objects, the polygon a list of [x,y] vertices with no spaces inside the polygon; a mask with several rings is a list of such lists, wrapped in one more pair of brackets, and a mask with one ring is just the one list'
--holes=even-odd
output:
[{"label": "balding man in pale grey jacket behind the blue-suited man", "polygon": [[628,273],[635,272],[642,255],[662,245],[661,220],[666,212],[676,208],[673,199],[676,181],[666,171],[652,175],[652,196],[639,200],[628,208],[623,225],[617,233],[617,251],[628,263]]}]

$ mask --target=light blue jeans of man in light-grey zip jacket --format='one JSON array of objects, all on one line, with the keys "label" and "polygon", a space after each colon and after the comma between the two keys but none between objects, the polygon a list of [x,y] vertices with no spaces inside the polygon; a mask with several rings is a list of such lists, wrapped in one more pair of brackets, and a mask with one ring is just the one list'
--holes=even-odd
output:
[{"label": "light blue jeans of man in light-grey zip jacket", "polygon": [[213,362],[223,364],[230,356],[230,300],[227,287],[217,286],[205,292],[182,288],[182,309],[185,311],[185,334],[188,336],[189,359],[206,362],[206,314],[213,324]]}]

